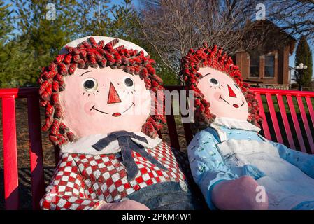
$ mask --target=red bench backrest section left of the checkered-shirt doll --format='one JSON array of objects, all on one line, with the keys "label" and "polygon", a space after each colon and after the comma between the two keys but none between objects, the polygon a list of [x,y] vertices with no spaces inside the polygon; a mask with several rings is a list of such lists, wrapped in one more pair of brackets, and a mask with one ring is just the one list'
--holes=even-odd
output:
[{"label": "red bench backrest section left of the checkered-shirt doll", "polygon": [[37,88],[0,89],[3,126],[3,174],[6,209],[18,209],[17,139],[15,99],[27,98],[29,125],[29,156],[31,162],[31,193],[33,209],[39,209],[44,193],[43,148],[41,145],[41,116]]}]

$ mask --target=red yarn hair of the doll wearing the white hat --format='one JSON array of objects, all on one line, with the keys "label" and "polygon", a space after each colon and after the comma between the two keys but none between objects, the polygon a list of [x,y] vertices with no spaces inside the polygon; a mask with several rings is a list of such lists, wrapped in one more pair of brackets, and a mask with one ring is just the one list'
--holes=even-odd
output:
[{"label": "red yarn hair of the doll wearing the white hat", "polygon": [[[59,102],[59,92],[66,87],[64,76],[73,75],[77,68],[110,66],[112,69],[122,69],[127,73],[140,76],[145,82],[146,89],[155,93],[158,90],[164,90],[162,79],[156,75],[153,67],[155,61],[149,56],[145,57],[143,51],[127,50],[124,46],[113,48],[118,41],[115,39],[104,45],[104,41],[96,43],[94,38],[90,37],[88,41],[83,41],[76,48],[66,46],[66,54],[58,55],[49,66],[42,69],[38,79],[41,106],[45,107],[45,124],[42,130],[49,130],[49,139],[52,144],[62,146],[76,139],[69,127],[62,123],[63,111]],[[141,132],[155,138],[157,131],[162,129],[164,123],[166,123],[164,111],[162,115],[158,115],[155,106],[155,115],[148,117]]]}]

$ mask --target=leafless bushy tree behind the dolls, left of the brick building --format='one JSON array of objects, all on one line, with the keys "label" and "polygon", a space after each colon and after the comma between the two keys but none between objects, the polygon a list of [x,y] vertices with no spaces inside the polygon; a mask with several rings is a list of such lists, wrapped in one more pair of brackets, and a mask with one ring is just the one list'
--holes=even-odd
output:
[{"label": "leafless bushy tree behind the dolls, left of the brick building", "polygon": [[254,0],[142,0],[141,4],[138,23],[145,40],[176,74],[180,58],[204,41],[222,46],[229,54],[259,43],[248,36]]}]

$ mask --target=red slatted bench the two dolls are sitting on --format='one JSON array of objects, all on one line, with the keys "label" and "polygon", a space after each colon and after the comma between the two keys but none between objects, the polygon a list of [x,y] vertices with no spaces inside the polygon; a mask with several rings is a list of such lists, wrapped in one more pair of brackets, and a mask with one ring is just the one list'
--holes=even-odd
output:
[{"label": "red slatted bench the two dolls are sitting on", "polygon": [[[180,91],[183,87],[167,86],[166,89]],[[264,118],[262,123],[264,137],[283,143],[290,148],[314,153],[314,92],[252,90],[257,93],[259,113]],[[17,98],[27,98],[32,204],[33,209],[39,209],[38,202],[44,193],[44,179],[38,89],[0,89],[0,98],[2,99],[3,174],[6,209],[19,208],[15,120],[15,99]],[[262,104],[262,101],[266,103]],[[278,107],[277,113],[276,107]],[[172,106],[171,111],[173,111]],[[299,113],[297,113],[298,111]],[[170,143],[171,146],[180,149],[175,116],[173,112],[171,113],[171,115],[166,116]],[[186,144],[189,144],[192,139],[190,123],[183,123],[182,125]]]}]

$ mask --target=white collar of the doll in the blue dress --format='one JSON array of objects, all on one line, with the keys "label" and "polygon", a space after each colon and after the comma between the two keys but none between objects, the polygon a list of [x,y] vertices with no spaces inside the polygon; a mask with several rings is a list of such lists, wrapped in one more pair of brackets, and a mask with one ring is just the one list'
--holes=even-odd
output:
[{"label": "white collar of the doll in the blue dress", "polygon": [[235,128],[254,132],[259,132],[261,130],[259,127],[249,123],[247,120],[236,120],[232,118],[216,118],[211,126],[224,126],[229,129]]}]

